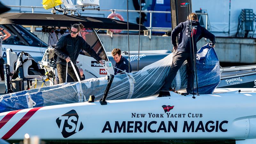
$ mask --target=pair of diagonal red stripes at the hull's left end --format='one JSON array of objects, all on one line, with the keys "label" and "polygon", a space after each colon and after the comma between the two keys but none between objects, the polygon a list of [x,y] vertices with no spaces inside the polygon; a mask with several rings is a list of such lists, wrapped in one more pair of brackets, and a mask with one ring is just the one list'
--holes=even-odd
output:
[{"label": "pair of diagonal red stripes at the hull's left end", "polygon": [[[2,139],[7,140],[9,139],[15,132],[17,132],[27,121],[30,117],[32,117],[38,109],[42,107],[37,107],[37,108],[32,108],[30,109],[5,135],[2,137]],[[8,113],[4,118],[0,121],[0,129],[6,124],[12,116],[14,116],[17,112],[20,110],[16,111],[11,111]],[[1,131],[1,130],[0,130]]]}]

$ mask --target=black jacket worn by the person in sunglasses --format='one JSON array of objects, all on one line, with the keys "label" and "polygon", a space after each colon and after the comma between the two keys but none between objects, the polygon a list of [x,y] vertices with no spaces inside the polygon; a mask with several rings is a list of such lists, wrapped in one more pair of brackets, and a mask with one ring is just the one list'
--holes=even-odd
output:
[{"label": "black jacket worn by the person in sunglasses", "polygon": [[[76,60],[81,49],[88,52],[95,60],[102,60],[81,36],[71,37],[70,34],[68,34],[62,36],[56,44],[54,49],[54,52],[58,55],[56,64],[66,66],[66,58],[69,57],[73,64],[76,65]],[[71,63],[68,63],[68,67],[71,67]]]}]

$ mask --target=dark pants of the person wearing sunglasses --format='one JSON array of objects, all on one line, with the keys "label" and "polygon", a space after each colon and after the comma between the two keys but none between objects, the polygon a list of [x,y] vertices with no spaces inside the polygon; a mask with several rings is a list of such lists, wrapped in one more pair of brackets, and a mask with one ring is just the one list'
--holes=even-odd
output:
[{"label": "dark pants of the person wearing sunglasses", "polygon": [[[78,76],[81,80],[81,76],[80,76],[79,70],[78,70],[76,65],[75,65],[75,68],[76,68],[76,72],[77,72],[77,74],[78,74]],[[57,72],[58,72],[58,77],[59,77],[60,84],[65,83],[66,82],[66,66],[61,65],[61,64],[57,64]],[[68,75],[71,76],[71,78],[75,82],[78,81],[78,79],[76,78],[76,74],[73,70],[73,67],[68,67]]]}]

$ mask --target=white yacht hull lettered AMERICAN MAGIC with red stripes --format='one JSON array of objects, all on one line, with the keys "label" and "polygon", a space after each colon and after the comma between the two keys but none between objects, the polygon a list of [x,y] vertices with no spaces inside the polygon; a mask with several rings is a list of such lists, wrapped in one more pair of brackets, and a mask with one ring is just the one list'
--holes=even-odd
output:
[{"label": "white yacht hull lettered AMERICAN MAGIC with red stripes", "polygon": [[[0,113],[0,138],[21,140],[256,139],[256,92],[107,100]],[[251,91],[251,92],[243,92]]]}]

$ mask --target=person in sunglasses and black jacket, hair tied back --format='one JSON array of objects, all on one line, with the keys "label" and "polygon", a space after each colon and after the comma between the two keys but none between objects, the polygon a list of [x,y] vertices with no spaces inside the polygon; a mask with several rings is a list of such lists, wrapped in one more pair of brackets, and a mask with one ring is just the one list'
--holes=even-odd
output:
[{"label": "person in sunglasses and black jacket, hair tied back", "polygon": [[84,28],[82,24],[74,24],[71,27],[70,35],[62,36],[57,43],[54,52],[58,55],[56,64],[57,72],[60,80],[60,84],[66,80],[66,65],[68,62],[68,74],[74,79],[75,82],[78,81],[76,74],[69,61],[71,60],[76,68],[77,74],[79,75],[79,70],[76,66],[76,60],[78,58],[81,49],[88,52],[95,60],[99,61],[103,65],[102,59],[97,55],[97,53],[91,48],[89,44],[81,36],[77,36],[80,30]]}]

